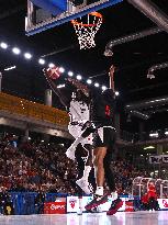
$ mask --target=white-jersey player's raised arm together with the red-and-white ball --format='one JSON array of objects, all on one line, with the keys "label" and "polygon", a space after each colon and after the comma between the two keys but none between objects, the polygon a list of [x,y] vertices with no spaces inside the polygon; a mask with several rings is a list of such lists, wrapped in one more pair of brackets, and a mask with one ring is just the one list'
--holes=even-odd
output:
[{"label": "white-jersey player's raised arm together with the red-and-white ball", "polygon": [[55,92],[55,94],[59,98],[61,104],[67,108],[69,104],[69,98],[64,95],[63,91],[57,88],[57,85],[54,82],[54,80],[59,79],[60,72],[58,67],[43,69],[44,76],[51,86],[52,90]]}]

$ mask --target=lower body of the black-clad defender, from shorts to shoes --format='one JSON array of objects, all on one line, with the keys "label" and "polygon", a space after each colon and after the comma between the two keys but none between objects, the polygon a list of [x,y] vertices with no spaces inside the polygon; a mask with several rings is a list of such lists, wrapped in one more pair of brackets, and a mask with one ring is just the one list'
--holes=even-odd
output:
[{"label": "lower body of the black-clad defender, from shorts to shoes", "polygon": [[[101,134],[99,134],[99,137],[101,137]],[[111,215],[114,214],[123,204],[122,201],[117,198],[117,193],[115,191],[115,182],[114,182],[114,177],[111,168],[112,153],[108,150],[108,147],[111,146],[111,144],[114,145],[115,132],[112,128],[104,127],[103,143],[100,143],[99,137],[97,139],[97,145],[99,146],[102,145],[107,147],[98,147],[94,149],[94,155],[96,155],[94,168],[97,171],[96,198],[86,206],[86,209],[91,210],[92,207],[96,207],[108,201],[108,194],[103,193],[103,183],[105,177],[105,180],[110,189],[110,194],[112,194],[114,199],[110,210],[108,211],[108,215]]]}]

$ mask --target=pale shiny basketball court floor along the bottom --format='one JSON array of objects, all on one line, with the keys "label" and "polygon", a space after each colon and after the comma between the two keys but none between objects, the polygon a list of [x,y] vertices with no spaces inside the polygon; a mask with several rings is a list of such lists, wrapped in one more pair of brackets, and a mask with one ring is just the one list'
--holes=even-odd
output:
[{"label": "pale shiny basketball court floor along the bottom", "polygon": [[0,216],[0,225],[168,225],[168,211]]}]

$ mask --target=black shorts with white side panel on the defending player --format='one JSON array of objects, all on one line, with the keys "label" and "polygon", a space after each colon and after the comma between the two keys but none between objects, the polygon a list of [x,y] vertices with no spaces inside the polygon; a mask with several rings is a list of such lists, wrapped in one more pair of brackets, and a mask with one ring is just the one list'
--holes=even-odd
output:
[{"label": "black shorts with white side panel on the defending player", "polygon": [[103,126],[94,133],[93,147],[114,148],[116,131],[112,126]]}]

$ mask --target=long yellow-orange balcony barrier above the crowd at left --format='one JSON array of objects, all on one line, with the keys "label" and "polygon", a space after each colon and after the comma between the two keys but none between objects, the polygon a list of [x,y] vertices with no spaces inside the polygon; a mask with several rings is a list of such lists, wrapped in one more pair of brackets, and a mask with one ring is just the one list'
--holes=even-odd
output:
[{"label": "long yellow-orange balcony barrier above the crowd at left", "polygon": [[69,122],[68,114],[65,111],[2,92],[0,93],[0,110],[49,122],[59,126],[67,126]]}]

